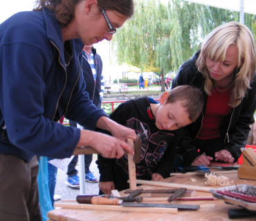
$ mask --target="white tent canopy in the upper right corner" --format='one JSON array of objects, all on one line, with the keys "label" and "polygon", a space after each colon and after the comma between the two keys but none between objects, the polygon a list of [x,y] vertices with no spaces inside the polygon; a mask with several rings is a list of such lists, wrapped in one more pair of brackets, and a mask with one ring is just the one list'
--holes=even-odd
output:
[{"label": "white tent canopy in the upper right corner", "polygon": [[185,0],[193,3],[213,6],[240,12],[240,22],[244,23],[244,12],[256,15],[256,0]]}]

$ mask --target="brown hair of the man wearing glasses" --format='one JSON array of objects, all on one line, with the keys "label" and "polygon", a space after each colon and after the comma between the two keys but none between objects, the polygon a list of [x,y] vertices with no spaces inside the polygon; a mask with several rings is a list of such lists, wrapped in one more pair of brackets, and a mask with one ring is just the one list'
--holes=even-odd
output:
[{"label": "brown hair of the man wearing glasses", "polygon": [[[75,6],[84,0],[36,0],[34,10],[42,10],[42,8],[50,8],[54,11],[58,21],[65,28],[71,23],[75,15]],[[134,15],[133,0],[98,0],[99,12],[102,8],[119,12],[121,15],[131,17]]]}]

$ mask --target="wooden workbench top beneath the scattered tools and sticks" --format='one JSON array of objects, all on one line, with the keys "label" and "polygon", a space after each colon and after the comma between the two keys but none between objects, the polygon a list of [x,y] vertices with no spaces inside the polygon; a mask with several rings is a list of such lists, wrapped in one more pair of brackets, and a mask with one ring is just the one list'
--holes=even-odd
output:
[{"label": "wooden workbench top beneath the scattered tools and sticks", "polygon": [[[225,173],[223,174],[229,177],[230,185],[235,184],[249,184],[256,185],[255,180],[239,180],[237,173]],[[191,178],[196,179],[192,182]],[[205,184],[205,178],[203,175],[179,175],[169,177],[163,182],[171,182],[177,184],[188,184],[195,186],[208,186]],[[158,186],[147,186],[143,185],[138,188],[143,189],[166,189],[165,187]],[[221,186],[212,186],[212,188],[219,188]],[[123,196],[124,193],[121,192]],[[205,193],[196,191],[196,196],[212,196],[211,193]],[[163,203],[163,202],[159,202]],[[48,218],[56,221],[107,221],[107,220],[120,220],[120,221],[136,221],[136,220],[147,220],[147,221],[162,221],[162,220],[175,220],[175,221],[226,221],[228,218],[228,209],[239,209],[239,206],[233,206],[226,204],[223,200],[205,200],[205,201],[174,201],[171,203],[175,204],[215,204],[215,207],[202,208],[200,207],[196,211],[179,211],[176,214],[167,213],[138,213],[138,212],[120,212],[120,211],[99,211],[99,210],[88,210],[88,209],[55,209],[48,212]],[[255,217],[235,219],[236,221],[249,221],[255,220]]]}]

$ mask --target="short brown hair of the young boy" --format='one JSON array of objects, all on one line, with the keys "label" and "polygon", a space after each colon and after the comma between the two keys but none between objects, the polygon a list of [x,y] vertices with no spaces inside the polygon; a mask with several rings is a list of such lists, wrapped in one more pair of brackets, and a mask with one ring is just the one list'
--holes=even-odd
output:
[{"label": "short brown hair of the young boy", "polygon": [[190,85],[181,85],[169,90],[169,97],[166,104],[181,102],[181,106],[188,111],[189,118],[194,122],[203,109],[203,94],[198,88]]}]

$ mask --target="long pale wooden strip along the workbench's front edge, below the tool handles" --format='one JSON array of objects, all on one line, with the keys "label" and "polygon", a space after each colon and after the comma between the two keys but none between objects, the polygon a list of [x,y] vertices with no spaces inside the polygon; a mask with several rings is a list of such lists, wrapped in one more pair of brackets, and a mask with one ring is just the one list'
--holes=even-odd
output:
[{"label": "long pale wooden strip along the workbench's front edge, below the tool handles", "polygon": [[145,212],[145,213],[178,213],[177,208],[146,208],[146,207],[122,207],[109,205],[93,205],[93,204],[65,204],[55,203],[55,207],[62,207],[66,209],[97,209],[107,211],[125,211],[125,212]]}]

